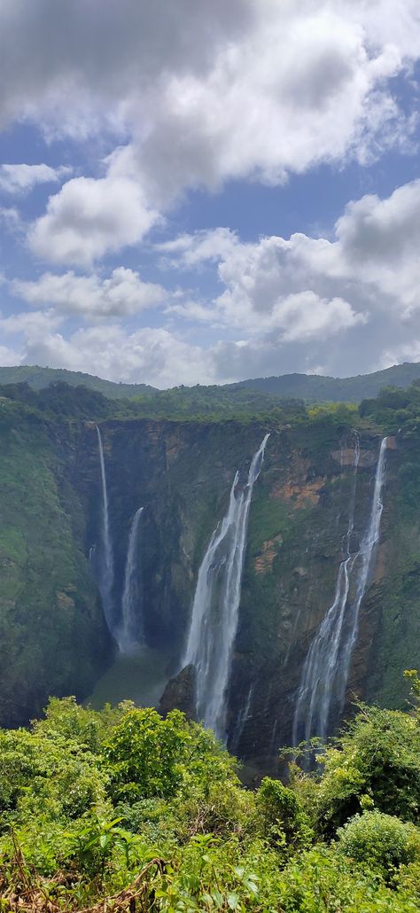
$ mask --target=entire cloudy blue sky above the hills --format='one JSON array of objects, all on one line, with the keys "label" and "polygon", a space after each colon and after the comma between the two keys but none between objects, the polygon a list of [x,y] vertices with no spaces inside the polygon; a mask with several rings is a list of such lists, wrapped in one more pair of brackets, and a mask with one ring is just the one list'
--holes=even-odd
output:
[{"label": "entire cloudy blue sky above the hills", "polygon": [[0,362],[420,360],[417,0],[0,0]]}]

